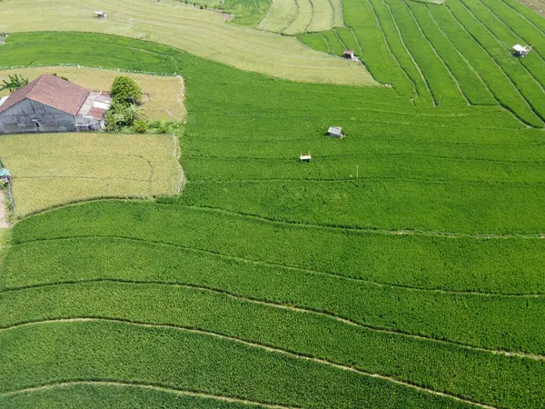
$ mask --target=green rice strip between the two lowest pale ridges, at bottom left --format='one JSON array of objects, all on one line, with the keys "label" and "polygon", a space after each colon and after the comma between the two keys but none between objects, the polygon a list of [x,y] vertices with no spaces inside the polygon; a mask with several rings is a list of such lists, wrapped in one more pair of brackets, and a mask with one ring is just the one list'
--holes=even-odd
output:
[{"label": "green rice strip between the two lowest pale ridges, at bottom left", "polygon": [[[65,343],[62,351],[56,347],[60,338]],[[0,339],[12,363],[0,370],[0,394],[40,384],[107,380],[244,396],[257,404],[282,406],[365,407],[389,402],[391,407],[471,407],[292,354],[263,353],[253,345],[175,328],[66,322],[21,326],[3,331]],[[24,350],[22,344],[27,346]],[[42,356],[40,362],[35,354]],[[213,361],[208,359],[211,355]]]}]

